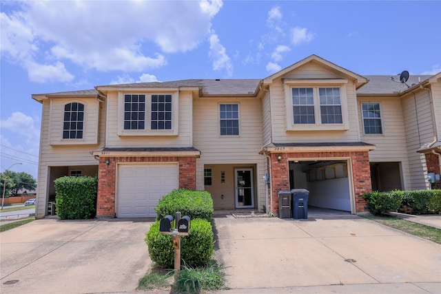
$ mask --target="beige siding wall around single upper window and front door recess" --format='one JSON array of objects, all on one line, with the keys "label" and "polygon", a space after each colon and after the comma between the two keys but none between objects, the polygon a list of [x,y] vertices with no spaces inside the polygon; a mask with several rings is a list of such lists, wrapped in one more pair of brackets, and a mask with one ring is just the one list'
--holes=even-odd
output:
[{"label": "beige siding wall around single upper window and front door recess", "polygon": [[[240,136],[219,135],[219,104],[239,104]],[[256,165],[256,208],[265,204],[265,156],[263,146],[262,101],[256,98],[198,98],[193,101],[193,143],[201,150],[196,160],[196,189],[204,189],[204,165]]]}]

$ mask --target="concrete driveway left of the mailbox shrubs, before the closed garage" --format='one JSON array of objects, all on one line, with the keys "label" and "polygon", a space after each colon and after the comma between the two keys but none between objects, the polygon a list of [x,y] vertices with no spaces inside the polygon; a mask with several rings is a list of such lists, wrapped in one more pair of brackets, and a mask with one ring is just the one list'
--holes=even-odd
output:
[{"label": "concrete driveway left of the mailbox shrubs, before the closed garage", "polygon": [[36,220],[0,233],[1,293],[134,291],[152,220]]}]

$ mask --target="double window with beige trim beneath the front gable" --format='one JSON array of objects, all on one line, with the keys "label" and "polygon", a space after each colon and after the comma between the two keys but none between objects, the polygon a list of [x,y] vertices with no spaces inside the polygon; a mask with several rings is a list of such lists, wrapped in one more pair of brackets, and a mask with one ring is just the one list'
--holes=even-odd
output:
[{"label": "double window with beige trim beneath the front gable", "polygon": [[349,129],[346,80],[284,83],[287,131]]}]

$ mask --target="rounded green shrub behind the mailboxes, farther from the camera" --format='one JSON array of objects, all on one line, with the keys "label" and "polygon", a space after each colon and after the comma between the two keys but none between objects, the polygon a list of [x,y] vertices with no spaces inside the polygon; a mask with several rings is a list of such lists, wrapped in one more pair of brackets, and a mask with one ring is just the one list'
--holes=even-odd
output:
[{"label": "rounded green shrub behind the mailboxes, farther from the camera", "polygon": [[192,220],[202,218],[211,222],[213,218],[213,200],[207,191],[192,191],[176,189],[163,196],[155,208],[158,217],[156,220],[170,215],[175,216],[176,211],[181,211],[183,216]]}]

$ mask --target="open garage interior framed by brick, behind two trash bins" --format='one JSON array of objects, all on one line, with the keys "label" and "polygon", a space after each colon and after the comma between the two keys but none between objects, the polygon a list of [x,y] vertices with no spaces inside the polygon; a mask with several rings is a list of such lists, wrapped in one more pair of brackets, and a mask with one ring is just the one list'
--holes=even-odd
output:
[{"label": "open garage interior framed by brick, behind two trash bins", "polygon": [[289,162],[291,189],[307,189],[311,207],[351,211],[347,160]]}]

